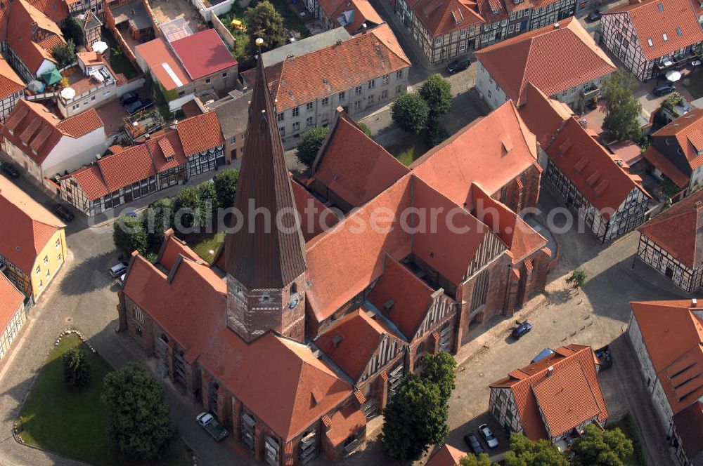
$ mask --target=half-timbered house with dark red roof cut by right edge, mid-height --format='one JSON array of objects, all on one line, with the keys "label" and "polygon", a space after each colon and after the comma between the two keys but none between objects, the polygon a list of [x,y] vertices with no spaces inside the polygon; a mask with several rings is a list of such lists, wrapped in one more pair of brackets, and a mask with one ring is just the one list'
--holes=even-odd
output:
[{"label": "half-timbered house with dark red roof cut by right edge, mid-height", "polygon": [[637,255],[692,293],[703,286],[703,191],[678,201],[638,228]]}]

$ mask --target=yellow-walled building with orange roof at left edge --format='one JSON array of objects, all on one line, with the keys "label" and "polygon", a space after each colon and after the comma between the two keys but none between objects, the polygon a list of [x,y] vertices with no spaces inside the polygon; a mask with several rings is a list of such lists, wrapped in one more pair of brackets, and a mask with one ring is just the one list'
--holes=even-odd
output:
[{"label": "yellow-walled building with orange roof at left edge", "polygon": [[0,177],[0,267],[37,302],[66,260],[65,225],[22,189]]}]

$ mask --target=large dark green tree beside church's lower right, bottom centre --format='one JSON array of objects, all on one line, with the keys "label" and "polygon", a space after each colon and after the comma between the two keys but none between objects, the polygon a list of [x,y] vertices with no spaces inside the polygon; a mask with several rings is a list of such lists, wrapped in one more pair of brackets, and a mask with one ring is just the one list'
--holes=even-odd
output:
[{"label": "large dark green tree beside church's lower right, bottom centre", "polygon": [[439,387],[412,373],[404,375],[383,414],[383,451],[396,460],[417,460],[449,435],[449,409]]}]

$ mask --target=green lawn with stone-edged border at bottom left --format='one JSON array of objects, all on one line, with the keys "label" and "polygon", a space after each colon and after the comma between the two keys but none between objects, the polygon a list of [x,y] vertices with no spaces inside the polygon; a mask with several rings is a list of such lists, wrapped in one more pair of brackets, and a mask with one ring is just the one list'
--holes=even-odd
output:
[{"label": "green lawn with stone-edged border at bottom left", "polygon": [[[75,347],[84,351],[93,373],[91,384],[82,390],[68,387],[63,380],[61,355]],[[22,406],[22,441],[96,466],[187,465],[191,453],[182,441],[176,442],[171,455],[160,461],[137,461],[117,451],[106,432],[108,415],[100,401],[103,378],[110,371],[105,359],[93,354],[77,335],[61,338]]]}]

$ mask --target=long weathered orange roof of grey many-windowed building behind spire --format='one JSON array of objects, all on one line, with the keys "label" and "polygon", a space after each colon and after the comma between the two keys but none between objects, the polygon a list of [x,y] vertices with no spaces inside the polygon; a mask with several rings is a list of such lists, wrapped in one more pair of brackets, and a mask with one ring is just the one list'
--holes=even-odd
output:
[{"label": "long weathered orange roof of grey many-windowed building behind spire", "polygon": [[[382,24],[342,44],[271,65],[266,68],[266,79],[273,98],[278,99],[278,112],[285,112],[410,65],[390,27]],[[253,83],[254,71],[242,73],[247,84]]]}]

